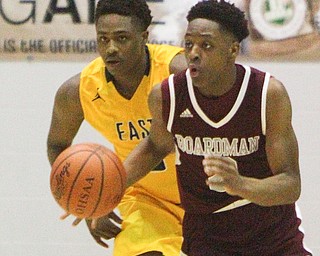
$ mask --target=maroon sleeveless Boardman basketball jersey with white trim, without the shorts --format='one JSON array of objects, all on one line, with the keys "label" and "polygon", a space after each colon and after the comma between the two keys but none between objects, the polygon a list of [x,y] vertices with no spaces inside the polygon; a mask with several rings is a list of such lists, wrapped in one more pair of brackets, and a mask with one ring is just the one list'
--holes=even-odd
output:
[{"label": "maroon sleeveless Boardman basketball jersey with white trim, without the shorts", "polygon": [[244,176],[272,175],[264,147],[269,77],[237,65],[235,85],[218,98],[201,95],[188,71],[163,83],[164,118],[179,151],[177,172],[186,211],[211,213],[239,199],[208,188],[202,165],[205,154],[233,158]]}]

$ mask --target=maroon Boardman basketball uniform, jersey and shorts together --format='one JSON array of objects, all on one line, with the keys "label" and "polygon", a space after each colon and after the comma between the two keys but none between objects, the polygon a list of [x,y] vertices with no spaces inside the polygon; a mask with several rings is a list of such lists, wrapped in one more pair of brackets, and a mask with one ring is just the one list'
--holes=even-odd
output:
[{"label": "maroon Boardman basketball uniform, jersey and shorts together", "polygon": [[188,70],[162,83],[163,118],[175,138],[179,190],[186,210],[183,252],[309,255],[303,249],[294,204],[262,207],[251,203],[213,213],[241,198],[209,189],[202,165],[205,154],[234,159],[244,176],[273,175],[265,151],[270,74],[238,64],[236,68],[234,86],[217,98],[201,95]]}]

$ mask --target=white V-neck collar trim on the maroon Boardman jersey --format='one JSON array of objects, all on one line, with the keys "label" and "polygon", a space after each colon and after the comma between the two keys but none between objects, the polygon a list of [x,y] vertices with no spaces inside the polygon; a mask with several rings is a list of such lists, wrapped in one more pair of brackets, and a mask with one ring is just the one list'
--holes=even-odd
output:
[{"label": "white V-neck collar trim on the maroon Boardman jersey", "polygon": [[188,86],[189,96],[190,96],[192,105],[193,105],[195,111],[198,113],[198,115],[202,118],[202,120],[204,122],[206,122],[207,124],[209,124],[210,126],[212,126],[214,128],[222,127],[223,125],[228,123],[232,119],[232,117],[235,115],[235,113],[238,111],[238,109],[243,101],[243,98],[245,96],[245,93],[247,91],[248,84],[249,84],[249,78],[251,75],[250,67],[245,66],[245,65],[243,65],[243,67],[245,68],[245,75],[244,75],[243,82],[242,82],[238,97],[236,99],[236,102],[234,103],[234,105],[231,108],[231,110],[229,111],[229,113],[223,119],[221,119],[219,122],[214,122],[214,121],[210,120],[210,118],[208,118],[208,116],[202,111],[202,109],[198,105],[198,102],[197,102],[195,94],[194,94],[192,79],[190,76],[190,70],[188,69],[186,71],[187,86]]}]

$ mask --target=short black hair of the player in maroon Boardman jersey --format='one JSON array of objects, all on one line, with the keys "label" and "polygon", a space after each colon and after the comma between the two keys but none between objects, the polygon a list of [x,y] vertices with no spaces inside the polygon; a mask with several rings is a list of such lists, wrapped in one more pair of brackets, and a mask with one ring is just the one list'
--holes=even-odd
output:
[{"label": "short black hair of the player in maroon Boardman jersey", "polygon": [[231,32],[239,42],[249,35],[248,20],[245,18],[244,12],[225,0],[198,2],[190,9],[187,20],[190,22],[198,18],[219,23],[222,28]]}]

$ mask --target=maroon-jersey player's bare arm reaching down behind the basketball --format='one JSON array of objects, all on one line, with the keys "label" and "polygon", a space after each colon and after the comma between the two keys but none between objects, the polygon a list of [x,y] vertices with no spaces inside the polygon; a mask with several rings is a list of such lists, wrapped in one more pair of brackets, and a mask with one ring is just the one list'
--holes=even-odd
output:
[{"label": "maroon-jersey player's bare arm reaching down behind the basketball", "polygon": [[162,119],[161,86],[156,85],[148,99],[152,115],[150,134],[129,154],[124,161],[127,171],[127,187],[143,178],[174,148],[172,135]]}]

